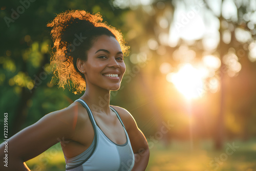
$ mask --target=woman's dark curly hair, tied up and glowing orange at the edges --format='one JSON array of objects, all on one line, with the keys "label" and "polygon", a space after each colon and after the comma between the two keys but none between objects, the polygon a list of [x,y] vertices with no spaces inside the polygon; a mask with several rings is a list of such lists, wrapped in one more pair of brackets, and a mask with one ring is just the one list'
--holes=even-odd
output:
[{"label": "woman's dark curly hair, tied up and glowing orange at the edges", "polygon": [[53,77],[56,76],[58,86],[69,90],[72,87],[74,94],[86,90],[86,79],[77,69],[77,58],[87,60],[87,51],[93,46],[95,38],[100,35],[113,36],[117,39],[124,56],[129,55],[129,46],[125,45],[120,30],[102,22],[98,12],[90,14],[84,10],[67,10],[59,13],[52,22],[51,35],[54,42],[50,64]]}]

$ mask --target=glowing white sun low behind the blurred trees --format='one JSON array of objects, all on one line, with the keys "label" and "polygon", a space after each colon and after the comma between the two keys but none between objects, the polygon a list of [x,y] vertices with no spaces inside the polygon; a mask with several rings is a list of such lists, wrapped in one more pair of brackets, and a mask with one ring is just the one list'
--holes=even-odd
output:
[{"label": "glowing white sun low behind the blurred trees", "polygon": [[178,72],[169,73],[166,79],[172,82],[177,90],[187,99],[196,99],[204,94],[203,78],[207,70],[196,69],[190,63],[185,63]]}]

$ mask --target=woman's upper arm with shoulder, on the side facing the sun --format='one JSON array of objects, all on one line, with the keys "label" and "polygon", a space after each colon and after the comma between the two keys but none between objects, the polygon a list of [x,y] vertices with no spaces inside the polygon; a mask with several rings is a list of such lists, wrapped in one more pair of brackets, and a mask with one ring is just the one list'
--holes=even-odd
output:
[{"label": "woman's upper arm with shoulder, on the side facing the sun", "polygon": [[129,135],[131,145],[134,153],[139,153],[148,149],[148,144],[144,134],[140,131],[139,127],[133,116],[123,108],[113,106],[120,115],[125,129]]}]

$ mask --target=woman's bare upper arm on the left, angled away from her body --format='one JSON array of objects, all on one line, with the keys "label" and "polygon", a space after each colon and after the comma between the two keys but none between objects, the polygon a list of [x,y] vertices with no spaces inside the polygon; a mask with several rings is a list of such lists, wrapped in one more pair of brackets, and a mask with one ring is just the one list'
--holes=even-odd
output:
[{"label": "woman's bare upper arm on the left, angled away from her body", "polygon": [[[8,141],[10,160],[19,158],[27,161],[46,151],[63,138],[71,138],[72,119],[67,117],[68,112],[63,109],[49,113],[12,136]],[[2,148],[3,144],[0,146],[0,149]]]}]

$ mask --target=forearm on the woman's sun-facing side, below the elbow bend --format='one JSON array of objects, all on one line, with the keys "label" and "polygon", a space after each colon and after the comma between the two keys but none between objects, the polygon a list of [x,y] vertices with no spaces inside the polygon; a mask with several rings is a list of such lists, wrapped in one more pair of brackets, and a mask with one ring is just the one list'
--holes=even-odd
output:
[{"label": "forearm on the woman's sun-facing side, below the elbow bend", "polygon": [[134,154],[135,162],[132,171],[142,171],[146,169],[148,159],[150,158],[150,150],[147,148],[142,152]]}]

